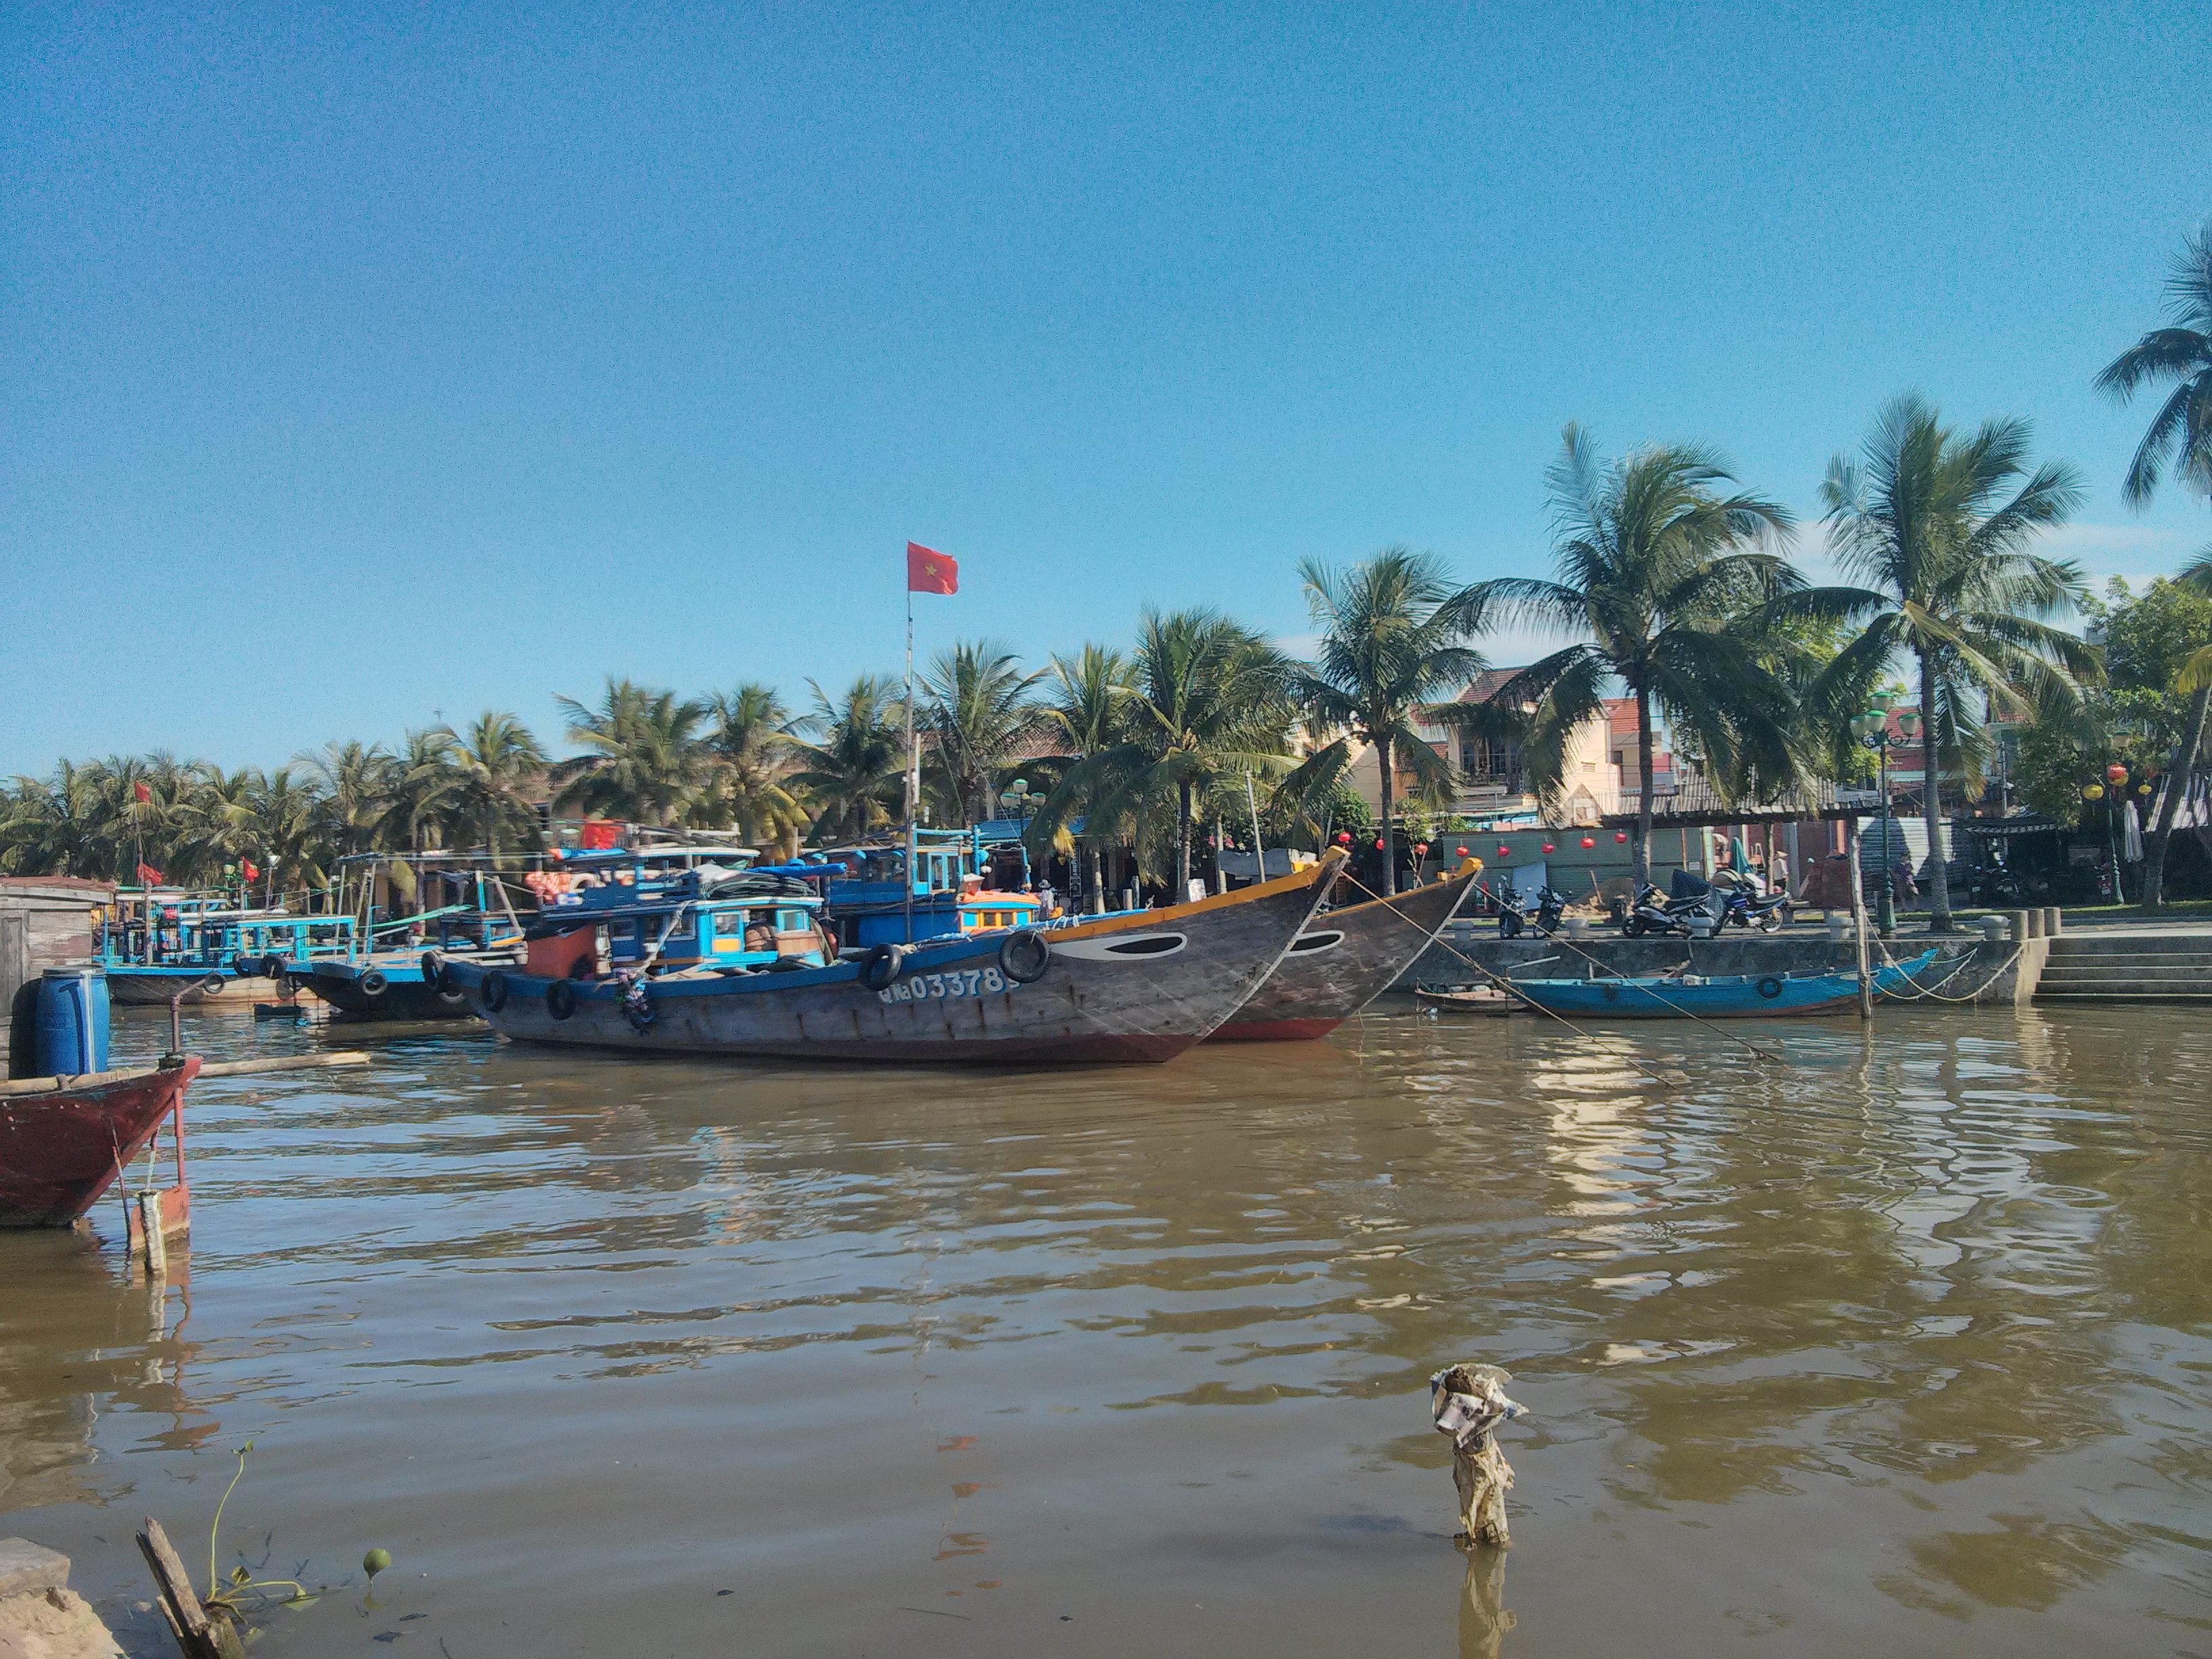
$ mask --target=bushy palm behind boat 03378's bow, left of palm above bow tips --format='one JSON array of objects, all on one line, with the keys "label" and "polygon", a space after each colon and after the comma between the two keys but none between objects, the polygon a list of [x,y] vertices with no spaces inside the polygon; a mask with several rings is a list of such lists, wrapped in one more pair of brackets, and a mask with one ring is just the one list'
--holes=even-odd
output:
[{"label": "bushy palm behind boat 03378's bow, left of palm above bow tips", "polygon": [[1130,679],[1121,732],[1068,768],[1037,834],[1055,834],[1075,812],[1141,823],[1168,810],[1181,898],[1190,891],[1194,810],[1228,779],[1290,765],[1290,666],[1219,611],[1146,611]]}]

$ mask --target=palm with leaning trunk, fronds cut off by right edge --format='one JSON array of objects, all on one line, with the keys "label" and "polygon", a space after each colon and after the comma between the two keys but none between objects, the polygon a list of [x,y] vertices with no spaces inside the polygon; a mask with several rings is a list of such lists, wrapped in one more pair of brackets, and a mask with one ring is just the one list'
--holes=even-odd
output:
[{"label": "palm with leaning trunk, fronds cut off by right edge", "polygon": [[[2166,327],[2150,330],[2097,376],[2097,389],[2121,403],[2146,385],[2174,383],[2172,396],[2150,418],[2121,484],[2132,507],[2150,502],[2168,460],[2185,482],[2212,495],[2212,219],[2205,219],[2174,257],[2166,276]],[[2212,591],[2212,546],[2197,555],[2183,580]],[[2212,710],[2212,659],[2183,668],[2177,690],[2190,695],[2190,717],[2166,765],[2166,799],[2143,845],[2143,909],[2166,902],[2166,847],[2190,774],[2203,754],[2205,714]]]}]

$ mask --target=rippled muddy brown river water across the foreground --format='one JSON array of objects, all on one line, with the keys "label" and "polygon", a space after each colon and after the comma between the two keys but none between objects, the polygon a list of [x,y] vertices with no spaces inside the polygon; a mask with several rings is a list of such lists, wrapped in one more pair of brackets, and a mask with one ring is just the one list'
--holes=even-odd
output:
[{"label": "rippled muddy brown river water across the foreground", "polygon": [[[195,1088],[164,1292],[113,1203],[0,1234],[0,1535],[137,1652],[133,1528],[204,1573],[246,1440],[223,1571],[336,1586],[270,1659],[2212,1650],[2194,1011],[378,1055]],[[1531,1409],[1502,1559],[1458,1358]]]}]

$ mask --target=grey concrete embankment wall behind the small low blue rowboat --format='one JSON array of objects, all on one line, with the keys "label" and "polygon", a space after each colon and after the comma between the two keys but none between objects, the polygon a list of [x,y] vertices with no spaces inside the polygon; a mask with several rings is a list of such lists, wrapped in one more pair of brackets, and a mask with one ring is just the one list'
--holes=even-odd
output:
[{"label": "grey concrete embankment wall behind the small low blue rowboat", "polygon": [[[1896,938],[1874,945],[1874,967],[1882,967],[1882,949],[1889,960],[1909,962],[1933,945],[1942,951],[1936,969],[1922,975],[1922,984],[1933,987],[1944,998],[1966,998],[1982,1004],[2026,1002],[2035,995],[2035,978],[2046,938],[2031,938],[2024,945],[2013,940],[1984,940],[1980,933],[1955,933],[1942,940]],[[1955,956],[1971,960],[1951,973],[1944,967]],[[1398,980],[1400,991],[1425,984],[1478,984],[1482,975],[1469,967],[1480,964],[1489,973],[1524,973],[1542,978],[1573,980],[1584,973],[1851,973],[1858,964],[1849,940],[1832,940],[1827,933],[1792,931],[1730,933],[1717,940],[1690,938],[1621,938],[1613,931],[1593,931],[1588,938],[1498,938],[1489,922],[1453,925],[1447,936],[1431,945],[1420,960]],[[1595,964],[1595,967],[1593,967]]]}]

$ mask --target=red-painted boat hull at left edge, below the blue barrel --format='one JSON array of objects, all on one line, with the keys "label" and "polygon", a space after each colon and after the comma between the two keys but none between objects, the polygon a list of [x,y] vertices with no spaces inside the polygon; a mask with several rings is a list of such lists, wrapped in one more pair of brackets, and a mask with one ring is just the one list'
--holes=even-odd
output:
[{"label": "red-painted boat hull at left edge, below the blue barrel", "polygon": [[197,1075],[190,1055],[177,1071],[0,1095],[0,1228],[66,1228],[91,1210]]}]

